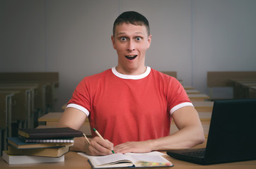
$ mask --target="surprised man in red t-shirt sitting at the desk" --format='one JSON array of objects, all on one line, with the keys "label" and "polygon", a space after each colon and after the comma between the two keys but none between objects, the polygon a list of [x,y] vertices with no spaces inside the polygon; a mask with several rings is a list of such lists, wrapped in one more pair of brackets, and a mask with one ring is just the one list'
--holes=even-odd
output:
[{"label": "surprised man in red t-shirt sitting at the desk", "polygon": [[[103,138],[92,131],[91,144],[76,139],[74,151],[90,155],[143,153],[187,149],[204,142],[197,111],[182,85],[145,65],[151,44],[149,22],[140,13],[122,13],[111,37],[117,67],[85,77],[66,106],[59,127],[78,130],[86,118]],[[179,131],[170,135],[170,122]]]}]

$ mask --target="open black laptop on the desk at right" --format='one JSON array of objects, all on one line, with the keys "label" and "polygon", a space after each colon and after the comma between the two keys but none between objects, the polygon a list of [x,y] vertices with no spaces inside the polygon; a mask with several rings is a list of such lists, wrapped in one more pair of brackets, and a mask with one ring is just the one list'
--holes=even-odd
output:
[{"label": "open black laptop on the desk at right", "polygon": [[169,150],[182,161],[202,165],[256,159],[256,99],[214,101],[204,149]]}]

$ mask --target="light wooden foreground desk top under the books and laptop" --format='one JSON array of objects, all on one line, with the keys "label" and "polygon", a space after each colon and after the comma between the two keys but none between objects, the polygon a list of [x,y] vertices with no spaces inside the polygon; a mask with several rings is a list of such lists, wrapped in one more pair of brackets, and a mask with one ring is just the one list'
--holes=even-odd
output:
[{"label": "light wooden foreground desk top under the books and laptop", "polygon": [[[215,164],[215,165],[197,165],[194,163],[188,163],[185,161],[179,161],[175,158],[171,158],[169,156],[165,156],[169,161],[171,161],[174,165],[174,167],[170,167],[171,169],[189,169],[189,168],[232,168],[232,169],[241,169],[241,168],[255,168],[256,166],[256,160],[255,161],[242,161],[242,162],[235,162],[235,163],[222,163],[222,164]],[[36,164],[21,164],[21,165],[8,165],[2,158],[0,158],[0,168],[6,169],[6,168],[72,168],[72,169],[78,169],[78,168],[91,168],[91,165],[88,163],[85,157],[78,155],[76,152],[69,152],[65,155],[65,161],[59,162],[59,163],[36,163]],[[165,169],[168,169],[167,167],[163,167]],[[159,168],[161,169],[161,168]]]}]

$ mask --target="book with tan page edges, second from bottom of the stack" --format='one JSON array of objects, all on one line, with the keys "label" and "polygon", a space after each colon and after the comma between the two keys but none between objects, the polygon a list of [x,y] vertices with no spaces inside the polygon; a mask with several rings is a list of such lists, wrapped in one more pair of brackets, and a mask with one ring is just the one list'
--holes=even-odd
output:
[{"label": "book with tan page edges, second from bottom of the stack", "polygon": [[8,146],[7,154],[24,156],[45,156],[60,157],[69,152],[69,146],[60,146],[57,148],[40,149],[16,149],[14,146]]}]

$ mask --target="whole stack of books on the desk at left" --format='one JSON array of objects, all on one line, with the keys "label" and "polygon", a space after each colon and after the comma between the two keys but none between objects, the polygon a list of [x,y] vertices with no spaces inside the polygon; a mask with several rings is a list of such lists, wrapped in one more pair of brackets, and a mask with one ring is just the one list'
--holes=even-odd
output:
[{"label": "whole stack of books on the desk at left", "polygon": [[19,129],[18,134],[19,137],[7,138],[8,149],[3,151],[9,164],[64,161],[74,137],[83,137],[83,132],[69,127]]}]

